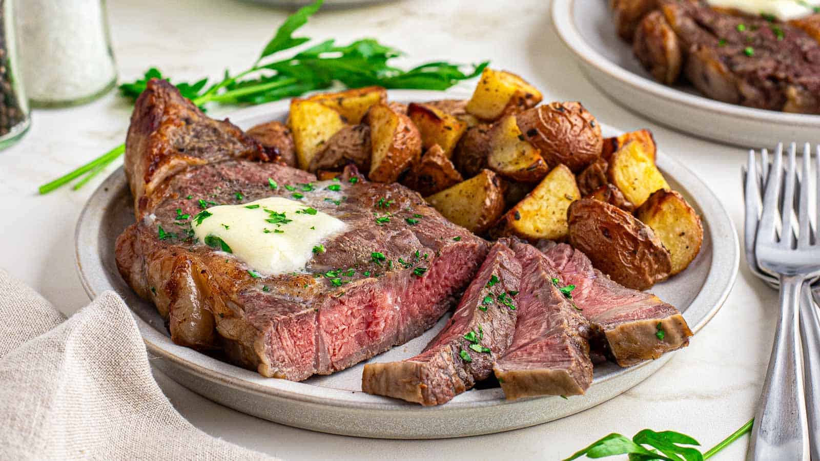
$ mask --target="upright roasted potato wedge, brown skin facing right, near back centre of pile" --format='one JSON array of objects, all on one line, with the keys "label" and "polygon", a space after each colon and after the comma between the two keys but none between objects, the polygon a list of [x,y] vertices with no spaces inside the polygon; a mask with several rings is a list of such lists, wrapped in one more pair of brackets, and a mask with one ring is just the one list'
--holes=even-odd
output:
[{"label": "upright roasted potato wedge, brown skin facing right, near back centre of pile", "polygon": [[410,117],[383,103],[370,108],[367,122],[372,148],[367,177],[376,182],[396,182],[421,157],[421,134]]}]

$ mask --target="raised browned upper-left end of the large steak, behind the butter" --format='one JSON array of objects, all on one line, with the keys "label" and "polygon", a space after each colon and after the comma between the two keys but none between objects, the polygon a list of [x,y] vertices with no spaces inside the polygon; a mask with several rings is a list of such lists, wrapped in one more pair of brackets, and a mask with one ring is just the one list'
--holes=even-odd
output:
[{"label": "raised browned upper-left end of the large steak, behind the butter", "polygon": [[148,80],[125,138],[125,175],[137,220],[147,211],[144,199],[169,176],[192,165],[237,157],[271,160],[227,119],[209,118],[166,80]]}]

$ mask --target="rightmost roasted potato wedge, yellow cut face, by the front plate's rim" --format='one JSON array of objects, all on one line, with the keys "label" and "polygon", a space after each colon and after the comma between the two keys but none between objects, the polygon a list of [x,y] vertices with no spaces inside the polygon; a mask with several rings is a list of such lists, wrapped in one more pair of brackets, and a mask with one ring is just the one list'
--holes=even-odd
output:
[{"label": "rightmost roasted potato wedge, yellow cut face, by the front plate's rim", "polygon": [[704,241],[704,226],[695,209],[673,190],[656,190],[638,208],[635,217],[654,230],[672,257],[671,275],[695,259]]}]

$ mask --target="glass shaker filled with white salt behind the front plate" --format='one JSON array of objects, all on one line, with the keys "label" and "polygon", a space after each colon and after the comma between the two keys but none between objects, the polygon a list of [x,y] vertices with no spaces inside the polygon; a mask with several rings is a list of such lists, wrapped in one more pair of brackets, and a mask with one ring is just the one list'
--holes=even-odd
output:
[{"label": "glass shaker filled with white salt behind the front plate", "polygon": [[22,76],[35,107],[83,104],[116,84],[104,0],[18,0]]}]

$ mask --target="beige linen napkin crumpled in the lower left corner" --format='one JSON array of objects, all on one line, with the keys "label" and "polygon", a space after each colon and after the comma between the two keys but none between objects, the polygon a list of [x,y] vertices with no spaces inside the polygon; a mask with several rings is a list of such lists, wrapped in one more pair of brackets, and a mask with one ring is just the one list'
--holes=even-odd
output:
[{"label": "beige linen napkin crumpled in the lower left corner", "polygon": [[269,459],[182,418],[113,292],[68,320],[0,269],[0,459]]}]

